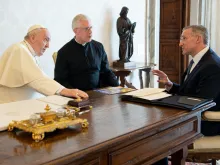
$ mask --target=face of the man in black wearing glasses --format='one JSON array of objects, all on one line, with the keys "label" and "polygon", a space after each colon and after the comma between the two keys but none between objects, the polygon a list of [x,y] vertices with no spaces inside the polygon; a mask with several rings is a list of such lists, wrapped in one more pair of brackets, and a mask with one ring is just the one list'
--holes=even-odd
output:
[{"label": "face of the man in black wearing glasses", "polygon": [[82,20],[79,23],[79,26],[74,29],[76,40],[84,44],[92,40],[92,25],[88,20]]}]

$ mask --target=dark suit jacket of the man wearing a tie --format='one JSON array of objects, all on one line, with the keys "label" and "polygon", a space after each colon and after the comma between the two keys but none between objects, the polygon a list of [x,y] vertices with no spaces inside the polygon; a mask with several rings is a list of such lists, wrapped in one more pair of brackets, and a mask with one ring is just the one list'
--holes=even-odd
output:
[{"label": "dark suit jacket of the man wearing a tie", "polygon": [[211,110],[220,110],[220,58],[210,48],[184,81],[187,70],[182,76],[181,84],[173,84],[169,91],[180,95],[213,98],[216,106]]}]

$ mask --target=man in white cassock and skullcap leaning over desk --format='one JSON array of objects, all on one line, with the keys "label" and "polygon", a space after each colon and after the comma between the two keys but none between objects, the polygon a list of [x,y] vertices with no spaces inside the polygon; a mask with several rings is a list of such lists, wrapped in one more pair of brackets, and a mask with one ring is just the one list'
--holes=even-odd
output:
[{"label": "man in white cassock and skullcap leaning over desk", "polygon": [[36,56],[49,48],[50,33],[41,25],[28,29],[24,41],[10,46],[0,57],[0,104],[43,95],[86,98],[78,89],[67,89],[49,78],[39,67]]}]

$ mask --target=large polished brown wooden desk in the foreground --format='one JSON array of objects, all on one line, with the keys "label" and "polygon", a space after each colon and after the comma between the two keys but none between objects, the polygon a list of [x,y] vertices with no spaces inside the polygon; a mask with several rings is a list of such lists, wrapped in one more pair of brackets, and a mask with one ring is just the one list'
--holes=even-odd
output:
[{"label": "large polished brown wooden desk in the foreground", "polygon": [[35,143],[31,134],[0,132],[1,165],[149,165],[172,154],[184,165],[187,146],[200,134],[201,111],[122,102],[89,92],[89,128],[57,130]]}]

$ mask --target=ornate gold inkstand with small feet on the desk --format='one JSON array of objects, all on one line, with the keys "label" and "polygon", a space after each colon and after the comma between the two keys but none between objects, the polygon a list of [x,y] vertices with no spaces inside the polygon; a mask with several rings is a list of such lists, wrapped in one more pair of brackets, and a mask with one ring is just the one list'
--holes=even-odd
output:
[{"label": "ornate gold inkstand with small feet on the desk", "polygon": [[8,126],[8,131],[18,128],[25,132],[31,132],[35,142],[39,142],[44,139],[45,132],[53,132],[56,129],[64,129],[73,125],[81,125],[82,128],[87,128],[89,125],[86,119],[76,117],[73,110],[67,109],[64,115],[60,116],[50,109],[47,105],[45,107],[46,112],[39,113],[40,117],[37,120],[34,116],[30,120],[12,121]]}]

